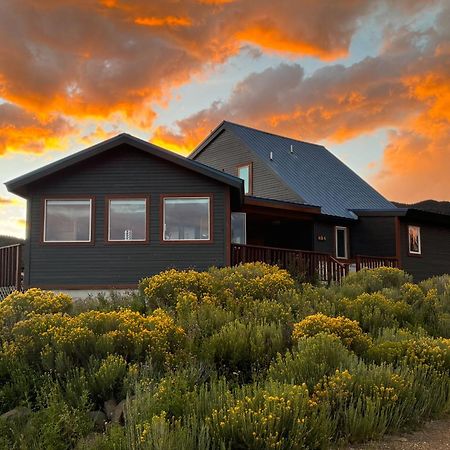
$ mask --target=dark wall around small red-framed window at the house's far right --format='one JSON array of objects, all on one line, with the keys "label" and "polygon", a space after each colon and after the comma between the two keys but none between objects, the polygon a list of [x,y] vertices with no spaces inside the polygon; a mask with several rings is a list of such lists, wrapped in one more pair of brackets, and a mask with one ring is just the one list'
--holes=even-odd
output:
[{"label": "dark wall around small red-framed window at the house's far right", "polygon": [[[408,225],[420,226],[421,255],[408,253]],[[450,227],[419,223],[402,219],[400,222],[402,269],[410,273],[414,281],[450,274]]]}]

